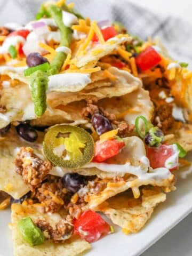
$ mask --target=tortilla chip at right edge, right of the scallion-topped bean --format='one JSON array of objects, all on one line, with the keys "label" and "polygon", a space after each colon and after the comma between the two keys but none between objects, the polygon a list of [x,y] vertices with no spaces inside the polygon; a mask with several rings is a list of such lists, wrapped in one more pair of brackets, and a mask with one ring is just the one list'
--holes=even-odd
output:
[{"label": "tortilla chip at right edge, right of the scallion-topped bean", "polygon": [[174,137],[167,142],[179,143],[187,152],[192,150],[192,124],[182,124],[177,130],[170,131]]}]

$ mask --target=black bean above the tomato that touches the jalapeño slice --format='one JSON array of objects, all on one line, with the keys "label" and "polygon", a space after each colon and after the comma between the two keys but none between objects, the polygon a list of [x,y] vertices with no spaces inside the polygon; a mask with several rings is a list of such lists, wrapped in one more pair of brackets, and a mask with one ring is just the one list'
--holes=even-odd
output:
[{"label": "black bean above the tomato that touches the jalape\u00f1o slice", "polygon": [[99,113],[95,113],[92,116],[91,123],[93,125],[93,128],[99,135],[113,130],[113,127],[112,127],[111,123],[109,122],[109,120],[107,119],[107,117],[105,117]]}]

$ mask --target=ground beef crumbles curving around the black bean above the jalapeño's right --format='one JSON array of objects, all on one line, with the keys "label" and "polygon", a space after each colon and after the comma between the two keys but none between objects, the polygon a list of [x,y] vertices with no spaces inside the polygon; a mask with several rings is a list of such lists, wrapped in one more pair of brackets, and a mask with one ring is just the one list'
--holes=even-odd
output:
[{"label": "ground beef crumbles curving around the black bean above the jalape\u00f1o's right", "polygon": [[91,118],[95,113],[101,113],[103,116],[107,117],[111,124],[114,124],[119,129],[118,135],[121,138],[130,136],[133,133],[134,125],[128,124],[126,121],[117,121],[114,114],[108,113],[106,110],[98,107],[98,99],[93,97],[87,100],[87,105],[83,108],[82,116],[86,118]]}]

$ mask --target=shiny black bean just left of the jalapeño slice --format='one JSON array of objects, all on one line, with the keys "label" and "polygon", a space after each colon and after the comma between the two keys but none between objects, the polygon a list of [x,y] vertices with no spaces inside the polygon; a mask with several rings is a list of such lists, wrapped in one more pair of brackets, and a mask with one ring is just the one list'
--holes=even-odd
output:
[{"label": "shiny black bean just left of the jalape\u00f1o slice", "polygon": [[16,126],[16,130],[21,138],[24,140],[34,142],[36,141],[38,134],[33,127],[28,123],[21,123]]}]

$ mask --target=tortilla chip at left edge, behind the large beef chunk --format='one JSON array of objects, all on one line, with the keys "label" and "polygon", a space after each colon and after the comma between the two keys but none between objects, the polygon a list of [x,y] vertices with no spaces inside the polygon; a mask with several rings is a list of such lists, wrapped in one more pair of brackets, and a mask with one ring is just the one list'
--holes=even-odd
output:
[{"label": "tortilla chip at left edge, behind the large beef chunk", "polygon": [[17,155],[19,147],[32,146],[37,153],[41,152],[42,148],[42,133],[38,133],[39,138],[35,143],[22,140],[15,129],[12,127],[6,133],[6,137],[1,137],[0,143],[0,190],[10,194],[13,198],[19,199],[25,195],[29,188],[23,182],[21,175],[15,172],[13,163]]}]

